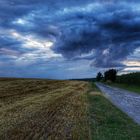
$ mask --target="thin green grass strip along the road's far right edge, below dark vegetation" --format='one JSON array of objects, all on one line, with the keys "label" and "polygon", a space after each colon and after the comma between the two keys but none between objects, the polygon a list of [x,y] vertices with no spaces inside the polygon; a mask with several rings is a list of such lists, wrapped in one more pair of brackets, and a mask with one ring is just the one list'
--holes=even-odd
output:
[{"label": "thin green grass strip along the road's far right edge, below dark vegetation", "polygon": [[140,86],[138,85],[128,85],[128,84],[119,84],[119,83],[112,83],[109,84],[110,86],[119,87],[122,89],[126,89],[132,92],[137,92],[140,94]]}]

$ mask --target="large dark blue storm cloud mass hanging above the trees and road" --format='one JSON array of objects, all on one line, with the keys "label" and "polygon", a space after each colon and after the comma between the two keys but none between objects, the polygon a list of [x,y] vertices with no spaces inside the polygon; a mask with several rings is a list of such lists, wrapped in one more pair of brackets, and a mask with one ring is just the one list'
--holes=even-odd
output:
[{"label": "large dark blue storm cloud mass hanging above the trees and road", "polygon": [[121,62],[140,45],[140,9],[136,8],[128,3],[113,3],[99,5],[93,11],[72,12],[73,20],[70,18],[54,50],[68,59],[93,51],[93,65],[123,66]]}]

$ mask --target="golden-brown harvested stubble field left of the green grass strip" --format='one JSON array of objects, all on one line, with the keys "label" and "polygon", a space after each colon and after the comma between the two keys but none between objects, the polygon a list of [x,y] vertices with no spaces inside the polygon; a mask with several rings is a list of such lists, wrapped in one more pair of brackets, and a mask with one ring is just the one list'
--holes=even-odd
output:
[{"label": "golden-brown harvested stubble field left of the green grass strip", "polygon": [[1,140],[89,139],[88,83],[0,80]]}]

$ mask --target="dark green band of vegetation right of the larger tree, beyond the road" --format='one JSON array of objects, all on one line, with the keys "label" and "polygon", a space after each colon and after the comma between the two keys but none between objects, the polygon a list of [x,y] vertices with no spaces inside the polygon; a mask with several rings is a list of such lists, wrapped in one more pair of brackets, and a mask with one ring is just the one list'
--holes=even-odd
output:
[{"label": "dark green band of vegetation right of the larger tree, beyond the road", "polygon": [[130,85],[139,85],[140,86],[140,72],[124,74],[121,76],[117,76],[117,83],[124,83]]}]

